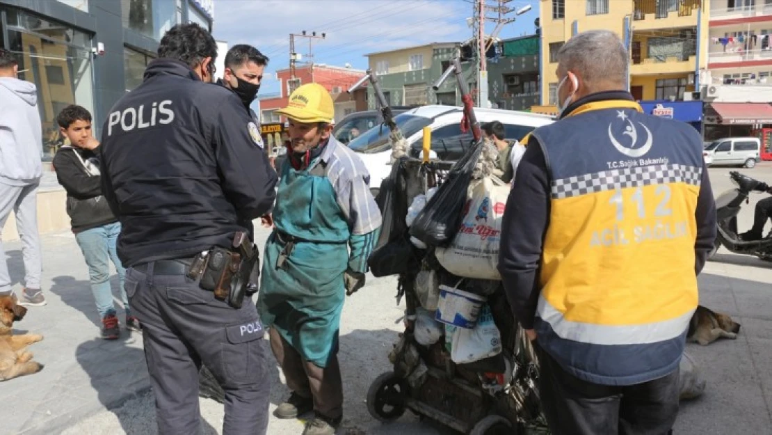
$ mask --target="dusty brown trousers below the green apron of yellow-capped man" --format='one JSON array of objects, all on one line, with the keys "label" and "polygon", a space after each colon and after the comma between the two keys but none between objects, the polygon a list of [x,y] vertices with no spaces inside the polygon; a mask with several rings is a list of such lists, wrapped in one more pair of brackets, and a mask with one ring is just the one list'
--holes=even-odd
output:
[{"label": "dusty brown trousers below the green apron of yellow-capped man", "polygon": [[276,328],[270,328],[268,336],[289,390],[301,397],[313,397],[313,410],[330,420],[343,416],[343,380],[337,352],[322,369],[313,362],[304,361]]}]

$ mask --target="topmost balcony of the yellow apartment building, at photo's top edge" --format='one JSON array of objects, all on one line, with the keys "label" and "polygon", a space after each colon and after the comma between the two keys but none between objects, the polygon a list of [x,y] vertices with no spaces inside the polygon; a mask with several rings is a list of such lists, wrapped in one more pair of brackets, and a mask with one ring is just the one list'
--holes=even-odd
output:
[{"label": "topmost balcony of the yellow apartment building, at photo's top edge", "polygon": [[634,0],[635,29],[663,29],[697,25],[701,0]]}]

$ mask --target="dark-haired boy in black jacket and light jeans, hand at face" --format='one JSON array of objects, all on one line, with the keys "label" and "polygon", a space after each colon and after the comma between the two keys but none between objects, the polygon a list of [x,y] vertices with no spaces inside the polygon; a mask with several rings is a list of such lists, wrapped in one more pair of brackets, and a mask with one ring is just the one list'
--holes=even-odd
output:
[{"label": "dark-haired boy in black jacket and light jeans, hand at face", "polygon": [[56,117],[59,131],[69,139],[70,146],[56,152],[53,167],[59,184],[67,191],[67,214],[73,233],[89,267],[91,291],[102,318],[102,338],[114,340],[120,336],[115,315],[113,291],[110,288],[110,260],[120,280],[120,297],[126,311],[126,328],[140,331],[137,318],[129,311],[124,290],[126,269],[116,253],[120,222],[110,211],[102,196],[99,170],[99,141],[91,134],[91,114],[83,107],[65,107]]}]

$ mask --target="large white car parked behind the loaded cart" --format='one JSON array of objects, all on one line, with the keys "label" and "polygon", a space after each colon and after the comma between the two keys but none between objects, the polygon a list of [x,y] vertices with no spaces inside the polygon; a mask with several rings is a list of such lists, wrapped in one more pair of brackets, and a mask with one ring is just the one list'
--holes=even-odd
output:
[{"label": "large white car parked behind the loaded cart", "polygon": [[[499,121],[504,125],[507,139],[520,140],[536,127],[551,124],[554,118],[513,110],[482,109],[475,107],[480,124]],[[445,161],[458,160],[472,143],[472,131],[462,133],[462,107],[429,105],[415,107],[394,117],[394,122],[408,141],[408,154],[418,158],[423,148],[423,128],[432,127],[432,157]],[[357,152],[370,172],[370,187],[373,192],[381,186],[391,172],[391,144],[389,130],[378,125],[350,141],[348,146]]]}]

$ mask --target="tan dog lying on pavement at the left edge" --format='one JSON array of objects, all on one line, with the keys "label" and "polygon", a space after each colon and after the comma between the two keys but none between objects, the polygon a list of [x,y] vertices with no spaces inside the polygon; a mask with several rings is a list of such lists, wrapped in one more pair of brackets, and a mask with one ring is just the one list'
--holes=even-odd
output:
[{"label": "tan dog lying on pavement at the left edge", "polygon": [[13,322],[20,321],[27,309],[16,304],[16,296],[0,296],[0,382],[17,376],[32,375],[43,369],[32,362],[25,348],[43,339],[42,335],[12,335]]}]

